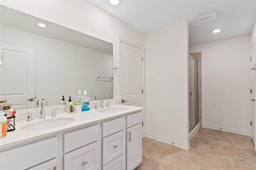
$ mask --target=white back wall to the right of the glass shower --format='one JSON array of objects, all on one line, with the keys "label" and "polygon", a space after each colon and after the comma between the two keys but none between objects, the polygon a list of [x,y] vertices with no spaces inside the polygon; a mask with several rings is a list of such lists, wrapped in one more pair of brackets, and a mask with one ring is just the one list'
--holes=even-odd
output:
[{"label": "white back wall to the right of the glass shower", "polygon": [[250,35],[190,45],[202,51],[202,125],[250,135]]}]

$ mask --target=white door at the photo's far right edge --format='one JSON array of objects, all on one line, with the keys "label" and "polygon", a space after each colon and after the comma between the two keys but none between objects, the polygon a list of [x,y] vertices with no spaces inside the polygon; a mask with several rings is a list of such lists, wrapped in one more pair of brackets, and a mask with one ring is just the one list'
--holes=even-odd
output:
[{"label": "white door at the photo's far right edge", "polygon": [[[251,68],[253,66],[255,66],[256,62],[255,62],[255,41],[252,45],[252,48],[251,48],[251,57],[252,57],[252,62],[251,62]],[[251,70],[251,88],[252,88],[252,93],[251,93],[251,99],[255,99],[255,90],[256,90],[256,70]],[[255,145],[255,132],[256,132],[256,126],[255,126],[255,101],[252,101],[251,102],[251,115],[252,115],[252,129],[251,129],[251,137],[252,137],[252,140],[254,142],[254,145]]]}]

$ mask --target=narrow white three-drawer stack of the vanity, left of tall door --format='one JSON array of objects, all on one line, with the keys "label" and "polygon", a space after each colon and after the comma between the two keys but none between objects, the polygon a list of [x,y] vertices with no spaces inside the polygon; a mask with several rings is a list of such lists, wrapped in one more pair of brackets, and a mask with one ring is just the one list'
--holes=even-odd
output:
[{"label": "narrow white three-drawer stack of the vanity, left of tall door", "polygon": [[102,123],[102,169],[125,170],[125,118]]}]

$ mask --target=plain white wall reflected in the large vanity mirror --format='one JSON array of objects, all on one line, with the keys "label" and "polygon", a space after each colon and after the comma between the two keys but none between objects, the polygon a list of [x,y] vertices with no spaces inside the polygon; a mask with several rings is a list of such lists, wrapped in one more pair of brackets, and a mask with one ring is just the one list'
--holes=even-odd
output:
[{"label": "plain white wall reflected in the large vanity mirror", "polygon": [[1,43],[34,49],[35,96],[49,106],[59,105],[62,95],[74,102],[78,90],[95,93],[98,100],[102,94],[113,98],[113,81],[97,79],[110,76],[111,54],[4,25],[0,33]]}]

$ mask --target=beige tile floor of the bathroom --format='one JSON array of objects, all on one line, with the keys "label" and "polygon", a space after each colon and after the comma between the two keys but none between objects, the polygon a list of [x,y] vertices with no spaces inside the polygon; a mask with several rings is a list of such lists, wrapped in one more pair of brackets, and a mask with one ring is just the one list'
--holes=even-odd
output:
[{"label": "beige tile floor of the bathroom", "polygon": [[200,128],[183,150],[142,139],[142,163],[136,170],[256,170],[256,152],[248,136]]}]

